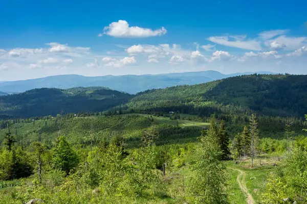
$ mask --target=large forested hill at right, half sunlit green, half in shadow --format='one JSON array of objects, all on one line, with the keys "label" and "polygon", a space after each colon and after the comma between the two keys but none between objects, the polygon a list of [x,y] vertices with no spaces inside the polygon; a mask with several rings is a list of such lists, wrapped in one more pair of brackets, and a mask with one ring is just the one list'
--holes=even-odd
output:
[{"label": "large forested hill at right, half sunlit green, half in shadow", "polygon": [[303,117],[307,113],[306,101],[307,75],[252,74],[145,91],[132,98],[126,107],[134,111],[205,115],[226,109],[240,112],[245,108],[264,115]]}]

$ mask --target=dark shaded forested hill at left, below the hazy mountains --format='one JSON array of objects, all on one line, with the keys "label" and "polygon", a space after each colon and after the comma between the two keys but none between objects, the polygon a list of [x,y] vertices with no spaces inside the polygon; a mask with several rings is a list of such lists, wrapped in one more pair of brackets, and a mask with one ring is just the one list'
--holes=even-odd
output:
[{"label": "dark shaded forested hill at left, below the hazy mountains", "polygon": [[0,115],[33,117],[77,112],[105,111],[124,104],[128,93],[104,87],[41,88],[0,96]]}]

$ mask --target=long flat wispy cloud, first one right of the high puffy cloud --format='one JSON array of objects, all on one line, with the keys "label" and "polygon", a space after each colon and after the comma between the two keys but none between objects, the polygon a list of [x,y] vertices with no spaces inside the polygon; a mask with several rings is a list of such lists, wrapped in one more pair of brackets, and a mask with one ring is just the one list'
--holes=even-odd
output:
[{"label": "long flat wispy cloud, first one right of the high puffy cloud", "polygon": [[241,49],[250,49],[250,50],[261,50],[260,42],[256,40],[234,40],[230,41],[227,36],[213,36],[208,38],[209,41],[230,46],[230,47],[237,47]]}]

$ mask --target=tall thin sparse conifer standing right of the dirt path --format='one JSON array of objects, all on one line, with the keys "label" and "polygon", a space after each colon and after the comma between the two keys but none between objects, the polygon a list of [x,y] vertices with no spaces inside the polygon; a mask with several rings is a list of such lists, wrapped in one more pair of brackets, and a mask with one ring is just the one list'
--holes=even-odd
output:
[{"label": "tall thin sparse conifer standing right of the dirt path", "polygon": [[254,157],[257,155],[257,149],[259,144],[259,131],[258,131],[258,122],[254,114],[250,117],[250,135],[251,135],[251,157],[252,157],[252,167],[254,162]]}]

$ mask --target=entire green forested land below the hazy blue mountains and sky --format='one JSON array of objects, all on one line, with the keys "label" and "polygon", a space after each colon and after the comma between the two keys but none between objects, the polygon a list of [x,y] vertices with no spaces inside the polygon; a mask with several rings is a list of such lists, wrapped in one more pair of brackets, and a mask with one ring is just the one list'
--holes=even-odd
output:
[{"label": "entire green forested land below the hazy blue mountains and sky", "polygon": [[252,74],[136,95],[1,96],[1,203],[300,203],[306,84]]}]

